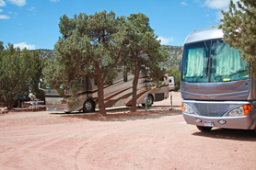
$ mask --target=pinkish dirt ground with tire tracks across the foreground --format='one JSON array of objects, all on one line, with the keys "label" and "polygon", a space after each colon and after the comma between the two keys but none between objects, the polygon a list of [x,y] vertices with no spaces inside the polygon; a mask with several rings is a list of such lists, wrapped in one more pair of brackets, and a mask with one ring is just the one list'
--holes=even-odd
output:
[{"label": "pinkish dirt ground with tire tracks across the foreground", "polygon": [[[150,112],[0,115],[0,169],[255,169],[251,130],[201,132],[180,115],[180,93]],[[144,108],[140,108],[144,109]],[[125,114],[123,114],[125,112]]]}]

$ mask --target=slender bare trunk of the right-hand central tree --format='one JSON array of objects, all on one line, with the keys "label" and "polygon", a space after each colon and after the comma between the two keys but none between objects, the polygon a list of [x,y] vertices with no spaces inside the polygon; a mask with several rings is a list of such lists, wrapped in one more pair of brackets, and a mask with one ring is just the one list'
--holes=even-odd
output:
[{"label": "slender bare trunk of the right-hand central tree", "polygon": [[138,65],[138,58],[135,59],[135,68],[134,68],[134,81],[133,81],[133,105],[131,108],[132,112],[137,110],[137,85],[139,81],[139,65]]}]

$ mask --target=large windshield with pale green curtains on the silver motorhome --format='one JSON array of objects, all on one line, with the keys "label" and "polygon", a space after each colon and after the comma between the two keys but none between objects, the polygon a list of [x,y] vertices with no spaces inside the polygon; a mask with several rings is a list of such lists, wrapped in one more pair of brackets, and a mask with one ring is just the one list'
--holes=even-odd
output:
[{"label": "large windshield with pale green curtains on the silver motorhome", "polygon": [[248,79],[246,62],[239,50],[222,40],[186,44],[182,60],[182,81],[215,83]]}]

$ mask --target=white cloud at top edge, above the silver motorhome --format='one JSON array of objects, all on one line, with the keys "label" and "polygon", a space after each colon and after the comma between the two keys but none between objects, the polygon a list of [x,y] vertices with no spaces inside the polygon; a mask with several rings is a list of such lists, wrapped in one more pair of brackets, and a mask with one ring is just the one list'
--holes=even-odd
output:
[{"label": "white cloud at top edge, above the silver motorhome", "polygon": [[[237,4],[239,0],[233,0]],[[207,6],[212,9],[227,9],[229,6],[230,0],[206,0],[204,6]]]}]

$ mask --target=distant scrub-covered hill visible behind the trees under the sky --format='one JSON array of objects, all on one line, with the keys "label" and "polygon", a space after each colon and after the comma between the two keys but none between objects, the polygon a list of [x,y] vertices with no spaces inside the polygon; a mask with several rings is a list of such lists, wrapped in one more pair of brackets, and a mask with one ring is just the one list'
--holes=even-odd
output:
[{"label": "distant scrub-covered hill visible behind the trees under the sky", "polygon": [[[169,58],[161,66],[175,67],[176,69],[179,69],[183,47],[182,46],[163,46],[163,47],[167,48],[167,50],[169,52]],[[55,51],[53,51],[53,50],[39,49],[39,50],[36,50],[36,51],[39,51],[39,55],[40,55],[41,59],[55,58]]]}]

